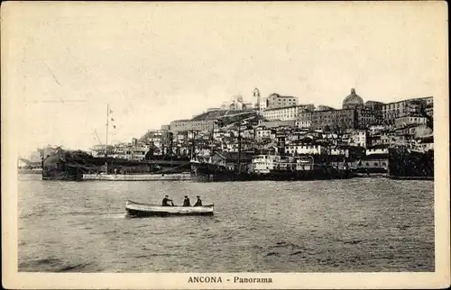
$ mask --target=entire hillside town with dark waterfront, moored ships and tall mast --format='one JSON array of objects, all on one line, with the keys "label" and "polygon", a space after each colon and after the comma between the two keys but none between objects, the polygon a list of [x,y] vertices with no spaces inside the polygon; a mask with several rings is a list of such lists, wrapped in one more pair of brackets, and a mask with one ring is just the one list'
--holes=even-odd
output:
[{"label": "entire hillside town with dark waterfront, moored ships and tall mast", "polygon": [[[286,96],[261,98],[257,88],[253,98],[254,104],[234,97],[231,104],[192,120],[170,122],[130,143],[110,145],[108,129],[115,127],[110,123],[115,119],[107,106],[105,145],[90,152],[41,149],[20,159],[19,168],[41,170],[43,180],[61,181],[434,177],[432,96],[364,103],[353,88],[342,109],[298,104],[296,97],[279,105]],[[393,113],[393,106],[404,109]],[[294,109],[287,118],[284,112]]]}]

